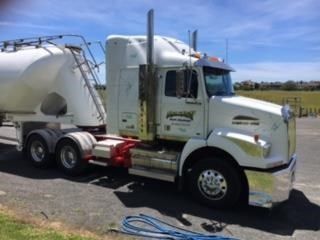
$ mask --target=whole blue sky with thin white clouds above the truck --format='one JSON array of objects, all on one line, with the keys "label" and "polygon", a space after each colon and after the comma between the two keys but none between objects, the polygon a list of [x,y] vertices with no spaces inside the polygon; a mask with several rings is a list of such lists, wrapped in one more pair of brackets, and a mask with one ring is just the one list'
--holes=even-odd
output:
[{"label": "whole blue sky with thin white clouds above the truck", "polygon": [[[155,10],[155,33],[188,40],[198,29],[198,48],[225,57],[235,81],[320,80],[318,0],[25,0],[7,1],[0,39],[61,33],[104,41],[110,34],[145,34]],[[13,2],[13,3],[12,3]]]}]

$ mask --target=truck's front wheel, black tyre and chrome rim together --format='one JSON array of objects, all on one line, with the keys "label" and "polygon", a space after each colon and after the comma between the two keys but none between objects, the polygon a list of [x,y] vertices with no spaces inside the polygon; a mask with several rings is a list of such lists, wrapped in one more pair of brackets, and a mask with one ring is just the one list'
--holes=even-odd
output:
[{"label": "truck's front wheel, black tyre and chrome rim together", "polygon": [[227,160],[206,158],[191,170],[189,189],[198,201],[209,207],[232,207],[241,195],[240,174]]}]

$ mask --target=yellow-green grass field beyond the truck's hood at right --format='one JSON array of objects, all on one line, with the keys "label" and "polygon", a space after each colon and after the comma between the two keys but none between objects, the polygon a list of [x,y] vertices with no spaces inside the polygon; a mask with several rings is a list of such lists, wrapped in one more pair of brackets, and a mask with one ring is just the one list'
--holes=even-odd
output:
[{"label": "yellow-green grass field beyond the truck's hood at right", "polygon": [[237,91],[237,95],[256,98],[268,102],[283,105],[288,98],[292,99],[290,103],[294,102],[294,98],[301,103],[299,104],[303,111],[320,113],[320,91]]}]

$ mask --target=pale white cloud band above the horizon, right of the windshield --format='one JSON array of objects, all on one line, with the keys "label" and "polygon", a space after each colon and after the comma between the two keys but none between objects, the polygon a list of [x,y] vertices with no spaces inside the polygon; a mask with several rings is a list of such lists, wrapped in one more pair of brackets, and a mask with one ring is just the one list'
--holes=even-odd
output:
[{"label": "pale white cloud band above the horizon, right of the windshield", "polygon": [[259,62],[252,64],[234,64],[235,81],[308,81],[320,80],[319,62]]}]

